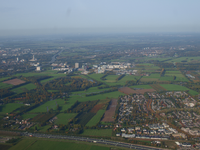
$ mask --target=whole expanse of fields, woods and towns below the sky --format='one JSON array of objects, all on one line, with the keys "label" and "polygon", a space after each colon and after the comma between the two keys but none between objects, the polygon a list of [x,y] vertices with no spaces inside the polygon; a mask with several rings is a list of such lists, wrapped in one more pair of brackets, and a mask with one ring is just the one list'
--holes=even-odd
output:
[{"label": "whole expanse of fields, woods and towns below the sky", "polygon": [[200,36],[0,39],[1,150],[200,149]]}]

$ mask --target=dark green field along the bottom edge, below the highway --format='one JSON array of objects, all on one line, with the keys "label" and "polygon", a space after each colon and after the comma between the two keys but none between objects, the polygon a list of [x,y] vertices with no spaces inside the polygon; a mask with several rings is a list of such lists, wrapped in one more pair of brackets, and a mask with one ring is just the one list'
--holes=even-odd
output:
[{"label": "dark green field along the bottom edge, below the highway", "polygon": [[24,139],[9,150],[109,150],[109,147],[97,146],[93,144],[74,143],[64,140],[46,140],[46,139]]}]

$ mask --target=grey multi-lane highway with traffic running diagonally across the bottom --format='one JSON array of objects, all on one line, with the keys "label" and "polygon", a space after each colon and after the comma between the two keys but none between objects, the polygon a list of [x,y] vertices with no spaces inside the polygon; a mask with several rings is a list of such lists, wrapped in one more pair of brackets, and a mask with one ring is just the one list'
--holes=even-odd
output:
[{"label": "grey multi-lane highway with traffic running diagonally across the bottom", "polygon": [[123,143],[123,142],[116,142],[111,140],[105,139],[95,139],[95,138],[88,138],[88,137],[79,137],[79,136],[66,136],[66,135],[50,135],[50,134],[40,134],[40,133],[21,133],[22,136],[33,136],[38,138],[52,138],[52,139],[67,139],[67,140],[75,140],[75,141],[85,141],[91,143],[99,143],[104,145],[111,145],[111,146],[119,146],[125,147],[130,149],[136,150],[163,150],[162,148],[154,148],[130,143]]}]

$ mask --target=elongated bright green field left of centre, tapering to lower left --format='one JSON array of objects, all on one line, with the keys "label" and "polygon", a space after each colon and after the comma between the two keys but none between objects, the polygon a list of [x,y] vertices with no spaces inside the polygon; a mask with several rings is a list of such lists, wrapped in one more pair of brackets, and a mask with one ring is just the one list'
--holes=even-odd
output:
[{"label": "elongated bright green field left of centre, tapering to lower left", "polygon": [[38,106],[37,108],[31,110],[29,113],[47,112],[51,108],[53,110],[55,110],[57,108],[57,105],[62,106],[62,105],[64,105],[64,102],[65,101],[62,100],[62,99],[56,99],[56,100],[48,101],[48,102]]}]

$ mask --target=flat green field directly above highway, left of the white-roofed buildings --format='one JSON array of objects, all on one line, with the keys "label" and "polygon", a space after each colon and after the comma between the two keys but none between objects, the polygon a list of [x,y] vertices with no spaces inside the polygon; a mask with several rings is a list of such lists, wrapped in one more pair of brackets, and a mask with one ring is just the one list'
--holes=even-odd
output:
[{"label": "flat green field directly above highway, left of the white-roofed buildings", "polygon": [[110,137],[112,135],[112,129],[86,129],[82,135]]}]

